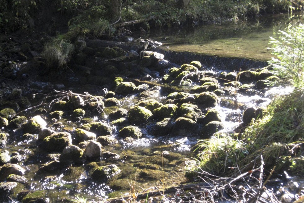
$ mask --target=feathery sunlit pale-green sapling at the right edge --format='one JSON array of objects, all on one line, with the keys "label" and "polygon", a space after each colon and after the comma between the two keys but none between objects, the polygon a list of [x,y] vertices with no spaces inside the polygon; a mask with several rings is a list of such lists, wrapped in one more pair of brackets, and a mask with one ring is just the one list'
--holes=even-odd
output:
[{"label": "feathery sunlit pale-green sapling at the right edge", "polygon": [[286,31],[280,30],[279,33],[278,39],[270,37],[272,53],[277,57],[272,58],[270,63],[285,83],[301,89],[304,87],[304,25],[290,25]]}]

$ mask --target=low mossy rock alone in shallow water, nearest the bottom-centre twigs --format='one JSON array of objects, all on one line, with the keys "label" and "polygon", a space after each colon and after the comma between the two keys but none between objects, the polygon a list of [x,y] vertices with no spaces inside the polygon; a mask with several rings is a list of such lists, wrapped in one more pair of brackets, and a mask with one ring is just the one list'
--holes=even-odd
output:
[{"label": "low mossy rock alone in shallow water, nearest the bottom-centre twigs", "polygon": [[107,166],[100,166],[96,168],[91,177],[94,181],[97,182],[107,182],[110,179],[115,178],[121,170],[115,164],[107,165]]}]

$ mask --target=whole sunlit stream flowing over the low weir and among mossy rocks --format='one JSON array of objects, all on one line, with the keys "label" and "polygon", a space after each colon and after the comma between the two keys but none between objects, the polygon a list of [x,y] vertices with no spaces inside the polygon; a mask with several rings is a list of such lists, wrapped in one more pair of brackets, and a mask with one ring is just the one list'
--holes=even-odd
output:
[{"label": "whole sunlit stream flowing over the low weir and among mossy rocks", "polygon": [[[143,191],[150,187],[162,189],[189,183],[190,180],[185,177],[184,173],[185,161],[196,156],[193,152],[193,146],[197,143],[197,140],[207,138],[201,134],[201,131],[205,130],[204,124],[198,124],[201,116],[206,115],[208,110],[214,109],[219,113],[222,123],[222,129],[218,132],[233,132],[242,123],[244,110],[251,107],[264,108],[270,103],[275,92],[284,94],[284,91],[285,93],[291,91],[288,88],[270,88],[267,85],[257,86],[257,81],[261,79],[247,80],[247,78],[242,83],[250,85],[254,90],[243,91],[238,88],[239,86],[225,84],[227,83],[225,77],[234,71],[239,72],[249,69],[268,73],[268,69],[263,70],[263,68],[267,66],[266,61],[272,57],[270,51],[266,49],[270,46],[268,44],[269,36],[274,36],[277,30],[284,29],[290,22],[296,23],[298,21],[302,21],[302,16],[275,15],[239,21],[238,23],[189,25],[185,30],[174,30],[172,28],[155,31],[147,38],[162,43],[162,46],[153,49],[153,51],[156,50],[164,55],[162,60],[165,65],[161,66],[158,63],[161,68],[154,68],[154,62],[154,65],[146,65],[149,59],[143,64],[140,62],[139,56],[136,56],[134,60],[121,58],[101,60],[100,58],[104,56],[100,57],[100,54],[104,53],[104,49],[96,49],[94,46],[90,46],[96,41],[87,42],[87,47],[89,47],[87,50],[91,51],[91,55],[88,54],[89,51],[81,52],[86,53],[84,62],[76,62],[77,66],[75,66],[76,70],[73,74],[67,76],[64,81],[56,81],[54,79],[56,76],[54,76],[53,82],[32,81],[31,90],[23,91],[23,95],[29,99],[33,106],[40,104],[45,96],[42,93],[51,93],[56,87],[60,87],[60,91],[68,92],[70,90],[78,94],[88,92],[90,95],[104,97],[103,101],[106,105],[102,112],[96,113],[92,109],[83,107],[86,113],[81,118],[75,119],[71,115],[71,109],[67,108],[63,110],[62,117],[52,119],[50,113],[53,110],[44,106],[44,110],[39,110],[40,107],[33,108],[21,114],[25,115],[28,120],[40,115],[46,120],[46,127],[56,132],[69,132],[72,134],[73,145],[78,145],[82,150],[87,147],[88,143],[82,143],[81,145],[76,141],[75,129],[82,128],[83,125],[91,122],[103,122],[110,126],[112,133],[107,136],[116,141],[114,141],[114,144],[102,144],[103,154],[100,158],[87,159],[82,164],[73,163],[65,167],[56,166],[48,170],[42,170],[41,167],[46,164],[58,161],[60,152],[47,152],[41,147],[41,140],[37,140],[38,133],[33,133],[33,136],[25,138],[22,127],[13,129],[2,127],[1,132],[7,133],[8,136],[5,145],[1,148],[1,153],[7,150],[10,156],[10,161],[7,163],[19,164],[25,169],[23,175],[25,180],[19,181],[17,186],[11,190],[11,200],[8,200],[8,202],[27,203],[33,200],[36,202],[37,199],[40,199],[39,202],[69,202],[68,200],[75,195],[100,201],[103,198],[132,196],[133,192]],[[75,60],[78,56],[80,58],[80,55],[74,56]],[[98,64],[102,65],[97,67],[96,61],[99,59],[102,62]],[[192,61],[199,61],[202,64],[202,67],[198,69],[204,75],[200,76],[199,80],[195,77],[189,77],[190,81],[185,80],[184,86],[179,86],[178,83],[172,81],[165,81],[164,76],[170,75],[173,67],[179,68],[181,65],[190,64]],[[83,70],[79,67],[88,68]],[[103,72],[104,69],[101,67],[108,67],[105,68],[108,75]],[[143,89],[137,92],[134,90],[130,94],[119,94],[117,88],[113,89],[113,86],[107,85],[108,82],[104,82],[109,80],[112,82],[115,78],[112,75],[122,76],[125,82],[134,82],[136,87],[142,85]],[[150,75],[151,78],[149,80],[142,79],[146,75]],[[129,124],[125,124],[124,120],[117,124],[118,122],[109,118],[111,112],[121,108],[129,111],[132,107],[147,99],[155,99],[161,105],[176,104],[177,108],[180,109],[183,102],[177,102],[177,97],[174,97],[174,95],[177,92],[185,92],[185,94],[189,94],[189,97],[195,97],[195,94],[199,94],[199,92],[194,91],[194,86],[203,86],[201,80],[207,77],[209,80],[212,80],[210,78],[216,78],[213,82],[217,85],[218,101],[215,106],[204,107],[203,104],[197,104],[196,100],[194,102],[190,98],[189,103],[197,104],[195,108],[199,108],[196,112],[198,115],[193,118],[193,122],[195,122],[193,126],[197,129],[187,129],[187,124],[182,124],[182,122],[176,124],[178,118],[180,118],[180,113],[172,116],[173,127],[169,128],[171,130],[165,135],[155,133],[155,123],[162,121],[162,119],[153,118],[148,122],[143,121],[143,123],[137,125],[142,133],[140,138],[127,139],[121,137],[119,131]],[[266,78],[262,80],[264,79]],[[172,80],[174,81],[174,78]],[[175,78],[175,80],[177,79]],[[146,86],[143,85],[145,81],[149,81]],[[232,80],[232,82],[234,81]],[[153,92],[148,92],[148,95],[145,95],[143,99],[141,93],[152,88],[151,84],[159,85],[160,90],[156,91],[155,95],[153,95]],[[114,101],[115,104],[107,105],[106,103],[107,99],[113,98],[104,94],[109,91],[115,91],[114,98],[117,100]],[[32,95],[37,92],[41,94],[36,95],[33,99]],[[172,96],[173,92],[176,93]],[[0,109],[3,109],[5,105],[1,105]],[[20,110],[22,109],[25,108],[21,107]],[[124,114],[121,118],[127,119],[129,117]],[[192,122],[188,120],[185,120],[185,122],[192,125]],[[179,125],[185,126],[180,127]],[[164,129],[162,128],[162,130]],[[118,177],[107,182],[92,180],[92,168],[110,164],[115,164],[121,170]],[[7,182],[7,180],[4,182]],[[297,179],[290,184],[295,184],[294,182],[300,184],[298,187],[303,184],[302,179]],[[276,186],[276,190],[283,188],[286,183],[278,181],[279,186]]]}]

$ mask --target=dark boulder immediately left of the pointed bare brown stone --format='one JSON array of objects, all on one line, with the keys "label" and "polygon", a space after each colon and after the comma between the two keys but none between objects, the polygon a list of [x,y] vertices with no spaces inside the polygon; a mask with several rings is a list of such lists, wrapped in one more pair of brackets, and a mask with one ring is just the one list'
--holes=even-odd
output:
[{"label": "dark boulder immediately left of the pointed bare brown stone", "polygon": [[84,162],[82,155],[83,150],[78,146],[66,146],[60,154],[59,162],[62,165],[70,165],[73,163],[82,164]]}]

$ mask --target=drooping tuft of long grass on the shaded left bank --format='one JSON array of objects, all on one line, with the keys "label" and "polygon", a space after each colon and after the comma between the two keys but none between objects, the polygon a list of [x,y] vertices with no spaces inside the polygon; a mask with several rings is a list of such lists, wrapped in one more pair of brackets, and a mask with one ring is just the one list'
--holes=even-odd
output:
[{"label": "drooping tuft of long grass on the shaded left bank", "polygon": [[42,56],[46,58],[50,69],[64,68],[69,62],[74,45],[69,40],[54,38],[44,45]]}]

